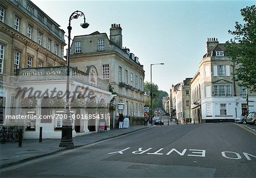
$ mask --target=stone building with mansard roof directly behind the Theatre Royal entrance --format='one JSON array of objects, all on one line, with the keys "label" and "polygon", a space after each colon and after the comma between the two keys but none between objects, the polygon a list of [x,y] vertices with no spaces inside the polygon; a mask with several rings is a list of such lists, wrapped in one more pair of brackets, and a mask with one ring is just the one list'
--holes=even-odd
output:
[{"label": "stone building with mansard roof directly behind the Theatre Royal entrance", "polygon": [[112,24],[110,39],[106,33],[75,36],[71,47],[71,66],[86,72],[89,65],[97,68],[98,76],[109,81],[117,93],[115,116],[143,117],[143,65],[138,57],[122,48],[122,28]]}]

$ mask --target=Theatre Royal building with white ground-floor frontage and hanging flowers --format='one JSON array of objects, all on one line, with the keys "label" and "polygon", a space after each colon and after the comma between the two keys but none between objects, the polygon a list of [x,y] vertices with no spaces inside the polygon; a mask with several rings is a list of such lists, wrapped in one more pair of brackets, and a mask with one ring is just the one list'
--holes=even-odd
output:
[{"label": "Theatre Royal building with white ground-floor frontage and hanging flowers", "polygon": [[73,136],[97,131],[101,121],[109,129],[109,82],[93,65],[70,69],[73,98],[65,102],[66,44],[59,24],[28,0],[1,1],[0,14],[0,126],[23,129],[24,138],[38,138],[43,127],[43,138],[61,138],[69,106]]}]

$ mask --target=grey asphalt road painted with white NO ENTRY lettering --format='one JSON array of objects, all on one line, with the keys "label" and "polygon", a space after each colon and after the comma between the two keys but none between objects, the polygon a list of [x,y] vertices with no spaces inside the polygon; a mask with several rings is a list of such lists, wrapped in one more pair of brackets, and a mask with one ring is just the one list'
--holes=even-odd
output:
[{"label": "grey asphalt road painted with white NO ENTRY lettering", "polygon": [[234,123],[153,126],[3,169],[0,177],[256,177],[256,135]]}]

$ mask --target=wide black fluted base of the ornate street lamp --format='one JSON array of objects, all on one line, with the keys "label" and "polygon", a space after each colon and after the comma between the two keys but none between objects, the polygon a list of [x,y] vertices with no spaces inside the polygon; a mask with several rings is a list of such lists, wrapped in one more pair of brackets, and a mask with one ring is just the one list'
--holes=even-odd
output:
[{"label": "wide black fluted base of the ornate street lamp", "polygon": [[59,147],[73,148],[72,126],[63,126],[61,132],[61,140]]}]

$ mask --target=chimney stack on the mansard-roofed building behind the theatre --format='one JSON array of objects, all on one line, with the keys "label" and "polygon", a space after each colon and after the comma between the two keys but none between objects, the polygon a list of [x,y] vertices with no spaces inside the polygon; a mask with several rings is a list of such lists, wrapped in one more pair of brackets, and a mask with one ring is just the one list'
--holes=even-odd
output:
[{"label": "chimney stack on the mansard-roofed building behind the theatre", "polygon": [[122,28],[120,24],[111,24],[110,40],[122,49]]}]

